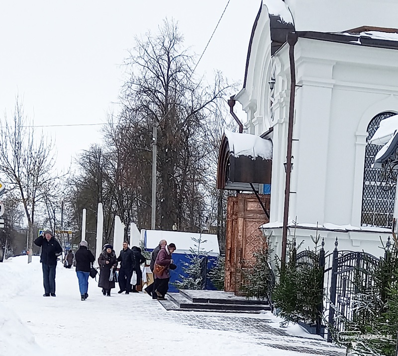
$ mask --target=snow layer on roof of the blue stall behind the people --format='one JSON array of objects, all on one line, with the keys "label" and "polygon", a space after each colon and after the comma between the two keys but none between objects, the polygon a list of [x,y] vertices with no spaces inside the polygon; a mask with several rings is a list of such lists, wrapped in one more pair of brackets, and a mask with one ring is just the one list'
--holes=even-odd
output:
[{"label": "snow layer on roof of the blue stall behind the people", "polygon": [[175,253],[189,253],[190,248],[197,249],[197,243],[192,240],[195,238],[201,240],[200,250],[206,251],[210,256],[218,256],[220,249],[218,246],[217,235],[200,234],[194,232],[181,231],[163,231],[163,230],[141,230],[141,238],[147,249],[154,249],[159,245],[160,240],[166,240],[167,243],[174,243],[177,247]]}]

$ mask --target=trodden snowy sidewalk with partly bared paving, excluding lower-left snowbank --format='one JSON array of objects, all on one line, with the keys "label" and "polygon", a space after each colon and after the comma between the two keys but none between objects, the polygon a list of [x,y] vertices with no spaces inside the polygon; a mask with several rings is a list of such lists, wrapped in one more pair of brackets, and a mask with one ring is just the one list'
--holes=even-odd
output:
[{"label": "trodden snowy sidewalk with partly bared paving, excluding lower-left snowbank", "polygon": [[[166,311],[146,293],[117,294],[115,288],[104,297],[92,279],[89,299],[81,301],[75,271],[61,266],[57,297],[43,297],[41,265],[37,258],[26,262],[0,263],[0,310],[1,304],[12,309],[50,355],[345,355],[324,341],[288,334],[271,314]],[[0,320],[0,340],[2,332]]]}]

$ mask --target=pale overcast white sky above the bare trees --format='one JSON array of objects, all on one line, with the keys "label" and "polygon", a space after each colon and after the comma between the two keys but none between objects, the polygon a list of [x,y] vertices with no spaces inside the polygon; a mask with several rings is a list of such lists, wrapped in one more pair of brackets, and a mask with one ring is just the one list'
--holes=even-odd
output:
[{"label": "pale overcast white sky above the bare trees", "polygon": [[[35,125],[106,120],[123,82],[120,64],[134,36],[179,22],[185,44],[200,54],[227,0],[12,0],[0,5],[0,115],[23,96]],[[243,82],[260,0],[231,0],[198,68]],[[56,142],[59,167],[100,142],[101,126],[44,128]]]}]

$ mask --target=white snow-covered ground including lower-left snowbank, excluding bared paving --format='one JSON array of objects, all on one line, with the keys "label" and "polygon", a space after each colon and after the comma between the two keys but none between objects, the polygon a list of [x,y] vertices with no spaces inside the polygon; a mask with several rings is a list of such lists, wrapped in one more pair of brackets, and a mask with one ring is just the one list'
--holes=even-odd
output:
[{"label": "white snow-covered ground including lower-left snowbank, excluding bared paving", "polygon": [[[146,293],[117,294],[118,288],[105,297],[92,279],[89,299],[81,301],[75,271],[61,264],[57,267],[57,296],[43,297],[37,257],[29,265],[25,256],[0,263],[0,280],[0,356],[304,355],[269,347],[244,332],[207,329],[194,322],[199,314],[206,314],[203,318],[209,322],[218,320],[219,314],[166,311]],[[179,322],[182,316],[190,319],[191,315],[192,322]],[[239,317],[227,320],[238,323]],[[276,328],[277,321],[271,322]],[[301,342],[305,345],[303,339]]]}]

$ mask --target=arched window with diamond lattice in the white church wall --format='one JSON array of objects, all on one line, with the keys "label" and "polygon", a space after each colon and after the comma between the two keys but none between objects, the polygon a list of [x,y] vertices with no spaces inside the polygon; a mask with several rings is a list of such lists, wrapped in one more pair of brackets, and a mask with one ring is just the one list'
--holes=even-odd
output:
[{"label": "arched window with diamond lattice in the white church wall", "polygon": [[[375,116],[368,126],[368,140],[372,138],[380,126],[380,122],[392,112],[384,112]],[[383,169],[372,168],[377,152],[382,148],[377,144],[367,144],[365,151],[364,186],[362,193],[362,226],[392,227],[397,182],[386,184]],[[391,184],[393,183],[393,184]]]}]

